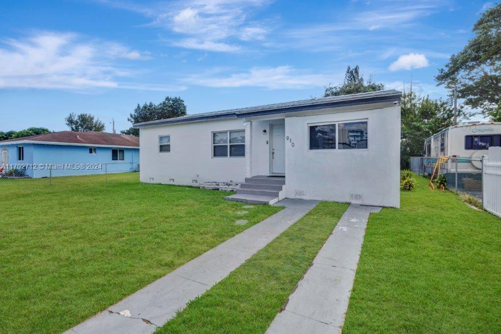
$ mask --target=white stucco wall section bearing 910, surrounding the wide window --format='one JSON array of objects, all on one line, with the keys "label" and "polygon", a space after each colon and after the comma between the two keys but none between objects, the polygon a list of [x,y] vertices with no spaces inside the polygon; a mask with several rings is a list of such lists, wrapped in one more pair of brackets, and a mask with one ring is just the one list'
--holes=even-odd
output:
[{"label": "white stucco wall section bearing 910, surrounding the wide window", "polygon": [[[309,150],[308,124],[368,121],[368,148]],[[286,197],[399,207],[400,107],[285,118]]]}]

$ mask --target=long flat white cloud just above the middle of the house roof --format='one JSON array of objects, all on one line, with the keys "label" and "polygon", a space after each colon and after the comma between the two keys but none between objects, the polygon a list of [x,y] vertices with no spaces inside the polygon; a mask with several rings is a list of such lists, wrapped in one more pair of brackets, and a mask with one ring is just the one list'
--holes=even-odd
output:
[{"label": "long flat white cloud just above the middle of the house roof", "polygon": [[263,87],[269,89],[301,89],[321,87],[332,81],[332,75],[311,74],[290,66],[252,68],[247,72],[223,76],[193,76],[185,81],[206,87]]}]

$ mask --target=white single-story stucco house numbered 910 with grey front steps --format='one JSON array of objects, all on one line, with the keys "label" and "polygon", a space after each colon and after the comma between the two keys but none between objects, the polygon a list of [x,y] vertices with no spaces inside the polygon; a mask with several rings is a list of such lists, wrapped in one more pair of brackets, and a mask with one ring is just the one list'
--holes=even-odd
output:
[{"label": "white single-story stucco house numbered 910 with grey front steps", "polygon": [[400,96],[379,91],[134,124],[140,179],[236,184],[227,199],[250,203],[399,207]]}]

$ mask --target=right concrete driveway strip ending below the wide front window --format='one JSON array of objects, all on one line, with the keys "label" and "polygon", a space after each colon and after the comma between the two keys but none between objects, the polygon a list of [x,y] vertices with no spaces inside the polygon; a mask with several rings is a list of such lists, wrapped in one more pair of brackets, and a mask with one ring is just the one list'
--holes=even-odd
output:
[{"label": "right concrete driveway strip ending below the wide front window", "polygon": [[267,333],[339,333],[348,309],[369,213],[352,204],[289,296]]}]

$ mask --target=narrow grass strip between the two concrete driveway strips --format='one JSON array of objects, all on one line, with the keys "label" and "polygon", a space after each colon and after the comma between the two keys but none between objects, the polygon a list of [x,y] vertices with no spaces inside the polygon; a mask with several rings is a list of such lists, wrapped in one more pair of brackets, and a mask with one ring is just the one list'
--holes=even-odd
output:
[{"label": "narrow grass strip between the two concrete driveway strips", "polygon": [[347,207],[320,203],[157,333],[265,332]]}]

